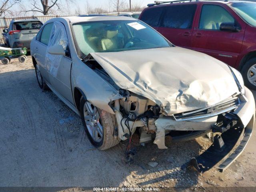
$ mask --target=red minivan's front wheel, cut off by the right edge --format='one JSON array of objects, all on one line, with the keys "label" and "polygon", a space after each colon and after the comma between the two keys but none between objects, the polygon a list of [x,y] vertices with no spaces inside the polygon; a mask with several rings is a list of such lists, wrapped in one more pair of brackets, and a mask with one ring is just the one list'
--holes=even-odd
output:
[{"label": "red minivan's front wheel, cut off by the right edge", "polygon": [[246,87],[256,90],[256,58],[252,58],[244,64],[241,74]]}]

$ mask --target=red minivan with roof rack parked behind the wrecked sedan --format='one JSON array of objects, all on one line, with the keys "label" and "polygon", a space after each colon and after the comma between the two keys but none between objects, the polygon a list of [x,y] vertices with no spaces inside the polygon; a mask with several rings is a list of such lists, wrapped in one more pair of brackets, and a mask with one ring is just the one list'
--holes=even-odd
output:
[{"label": "red minivan with roof rack parked behind the wrecked sedan", "polygon": [[206,53],[240,70],[245,85],[256,90],[256,2],[167,3],[149,4],[139,19],[174,45]]}]

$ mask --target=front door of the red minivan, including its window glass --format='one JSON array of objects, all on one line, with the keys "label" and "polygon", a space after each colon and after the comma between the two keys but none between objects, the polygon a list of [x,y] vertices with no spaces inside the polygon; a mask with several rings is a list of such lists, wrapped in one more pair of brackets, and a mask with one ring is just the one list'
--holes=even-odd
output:
[{"label": "front door of the red minivan, including its window glass", "polygon": [[[221,31],[220,24],[232,22],[240,32]],[[193,33],[193,49],[234,66],[240,54],[245,24],[225,4],[202,4]]]}]

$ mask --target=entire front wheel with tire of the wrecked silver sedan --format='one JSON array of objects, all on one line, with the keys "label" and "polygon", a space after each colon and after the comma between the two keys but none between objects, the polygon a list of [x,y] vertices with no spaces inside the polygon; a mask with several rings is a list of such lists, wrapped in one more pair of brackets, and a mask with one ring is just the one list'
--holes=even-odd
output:
[{"label": "entire front wheel with tire of the wrecked silver sedan", "polygon": [[119,143],[114,136],[116,116],[96,108],[81,97],[80,115],[90,142],[99,150],[106,150]]}]

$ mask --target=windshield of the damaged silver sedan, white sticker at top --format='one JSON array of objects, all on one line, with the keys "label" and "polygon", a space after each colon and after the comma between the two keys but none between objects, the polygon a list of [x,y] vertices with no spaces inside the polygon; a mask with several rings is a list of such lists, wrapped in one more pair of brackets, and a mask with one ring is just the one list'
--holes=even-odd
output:
[{"label": "windshield of the damaged silver sedan, white sticker at top", "polygon": [[78,55],[170,47],[172,44],[140,21],[109,20],[73,24]]}]

